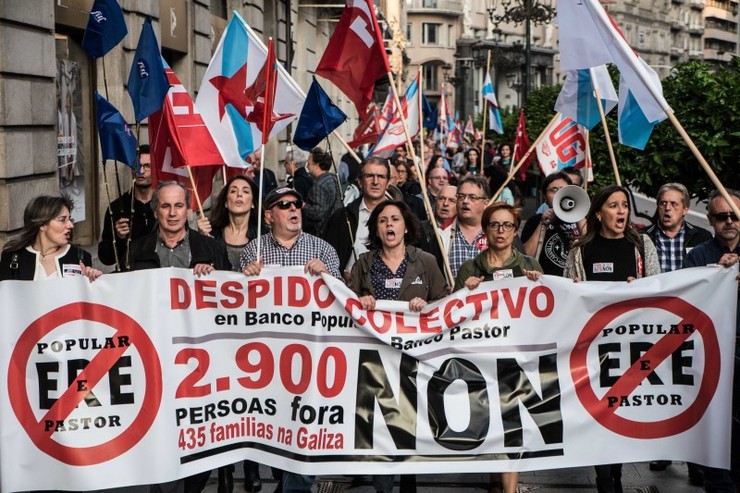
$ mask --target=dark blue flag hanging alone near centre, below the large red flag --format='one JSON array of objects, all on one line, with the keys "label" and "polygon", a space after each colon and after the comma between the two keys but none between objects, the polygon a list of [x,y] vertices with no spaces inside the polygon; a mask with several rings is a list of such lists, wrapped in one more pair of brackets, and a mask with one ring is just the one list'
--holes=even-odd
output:
[{"label": "dark blue flag hanging alone near centre, below the large red flag", "polygon": [[293,134],[293,143],[310,151],[346,119],[347,115],[332,103],[314,77]]}]

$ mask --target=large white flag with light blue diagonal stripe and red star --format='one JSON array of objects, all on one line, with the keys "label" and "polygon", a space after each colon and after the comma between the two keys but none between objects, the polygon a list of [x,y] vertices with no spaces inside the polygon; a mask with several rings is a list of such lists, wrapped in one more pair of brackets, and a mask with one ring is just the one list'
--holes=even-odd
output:
[{"label": "large white flag with light blue diagonal stripe and red star", "polygon": [[[226,164],[248,167],[245,159],[262,143],[260,127],[265,108],[267,48],[241,16],[234,12],[213,55],[195,106],[203,115]],[[274,137],[301,114],[305,94],[277,64]]]}]

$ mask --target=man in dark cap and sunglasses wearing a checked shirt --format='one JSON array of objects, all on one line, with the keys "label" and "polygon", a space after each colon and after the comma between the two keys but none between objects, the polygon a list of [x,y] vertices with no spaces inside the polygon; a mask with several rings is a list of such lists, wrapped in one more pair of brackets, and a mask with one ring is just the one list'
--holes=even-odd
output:
[{"label": "man in dark cap and sunglasses wearing a checked shirt", "polygon": [[[290,187],[273,190],[265,198],[265,219],[272,230],[262,235],[260,258],[257,258],[257,241],[251,241],[241,255],[241,271],[247,276],[257,276],[262,267],[302,265],[311,275],[327,272],[339,277],[337,252],[327,242],[302,229],[303,197]],[[282,474],[273,469],[279,478],[275,491],[310,493],[314,483],[313,476],[305,476],[285,471]]]}]

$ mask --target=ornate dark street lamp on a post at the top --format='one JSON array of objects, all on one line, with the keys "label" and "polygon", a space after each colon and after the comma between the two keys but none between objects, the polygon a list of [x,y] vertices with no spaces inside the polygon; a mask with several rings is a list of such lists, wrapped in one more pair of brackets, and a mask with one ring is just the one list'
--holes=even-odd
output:
[{"label": "ornate dark street lamp on a post at the top", "polygon": [[532,59],[531,31],[532,24],[535,26],[549,23],[555,17],[555,8],[551,0],[500,0],[503,14],[496,11],[499,0],[490,0],[488,7],[488,18],[491,19],[495,29],[501,23],[512,23],[515,26],[524,24],[524,74],[522,77],[522,105],[527,104],[530,87],[530,63]]}]

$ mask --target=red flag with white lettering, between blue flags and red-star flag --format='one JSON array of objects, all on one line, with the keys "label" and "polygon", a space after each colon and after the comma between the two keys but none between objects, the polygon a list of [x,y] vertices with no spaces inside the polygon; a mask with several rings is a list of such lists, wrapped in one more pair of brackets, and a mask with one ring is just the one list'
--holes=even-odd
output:
[{"label": "red flag with white lettering, between blue flags and red-star flag", "polygon": [[195,194],[186,167],[190,167],[201,200],[211,194],[211,181],[224,164],[193,100],[170,67],[165,67],[170,90],[162,109],[149,116],[152,146],[152,185],[175,180],[187,187],[191,207],[197,209]]}]

